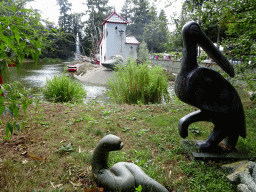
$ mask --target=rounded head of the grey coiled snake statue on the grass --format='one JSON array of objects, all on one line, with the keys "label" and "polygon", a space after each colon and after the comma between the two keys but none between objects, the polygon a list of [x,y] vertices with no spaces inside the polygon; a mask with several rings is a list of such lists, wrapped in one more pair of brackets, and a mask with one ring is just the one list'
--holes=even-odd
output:
[{"label": "rounded head of the grey coiled snake statue on the grass", "polygon": [[100,146],[101,151],[117,151],[123,148],[121,139],[112,134],[103,137],[98,145]]}]

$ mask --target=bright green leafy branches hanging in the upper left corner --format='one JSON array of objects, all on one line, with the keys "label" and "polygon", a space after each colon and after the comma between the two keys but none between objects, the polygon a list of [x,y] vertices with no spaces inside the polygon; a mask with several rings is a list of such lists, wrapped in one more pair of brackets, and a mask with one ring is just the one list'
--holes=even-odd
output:
[{"label": "bright green leafy branches hanging in the upper left corner", "polygon": [[22,8],[23,1],[1,1],[0,7],[0,59],[3,59],[0,68],[6,66],[9,60],[14,61],[19,67],[25,55],[30,55],[37,64],[43,47],[42,40],[46,38],[45,31],[42,33],[43,26],[39,22],[40,15]]}]

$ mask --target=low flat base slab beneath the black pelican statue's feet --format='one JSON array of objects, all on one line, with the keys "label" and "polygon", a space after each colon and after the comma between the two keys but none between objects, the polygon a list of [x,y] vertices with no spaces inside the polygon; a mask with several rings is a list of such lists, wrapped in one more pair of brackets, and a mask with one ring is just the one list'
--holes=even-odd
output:
[{"label": "low flat base slab beneath the black pelican statue's feet", "polygon": [[201,161],[220,161],[220,160],[243,160],[243,159],[253,159],[240,151],[224,151],[221,147],[216,149],[213,152],[201,152],[200,149],[196,146],[196,143],[199,141],[195,140],[182,140],[181,145],[184,150],[188,153],[192,160],[201,160]]}]

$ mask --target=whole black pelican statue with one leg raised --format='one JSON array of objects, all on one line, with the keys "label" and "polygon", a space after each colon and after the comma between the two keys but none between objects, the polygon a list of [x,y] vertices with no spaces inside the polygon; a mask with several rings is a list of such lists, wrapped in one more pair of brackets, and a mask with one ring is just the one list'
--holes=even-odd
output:
[{"label": "whole black pelican statue with one leg raised", "polygon": [[177,97],[200,110],[180,119],[178,129],[182,138],[188,136],[188,127],[198,121],[214,124],[212,133],[197,146],[202,151],[214,151],[223,140],[225,147],[234,149],[239,135],[246,137],[244,109],[235,88],[218,72],[197,64],[197,45],[231,77],[234,69],[224,55],[202,32],[199,25],[188,22],[182,28],[184,50],[181,70],[175,81]]}]

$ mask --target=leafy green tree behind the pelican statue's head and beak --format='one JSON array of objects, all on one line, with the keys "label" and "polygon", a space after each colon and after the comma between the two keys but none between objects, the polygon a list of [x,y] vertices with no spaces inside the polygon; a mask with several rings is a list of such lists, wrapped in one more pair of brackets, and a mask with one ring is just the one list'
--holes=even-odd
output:
[{"label": "leafy green tree behind the pelican statue's head and beak", "polygon": [[[230,60],[242,61],[239,65],[233,65],[237,74],[235,81],[245,82],[248,89],[255,90],[256,81],[252,79],[256,79],[256,2],[254,0],[198,2],[199,4],[195,1],[185,1],[183,10],[186,6],[188,11],[185,14],[182,11],[180,19],[177,19],[176,34],[180,34],[182,26],[188,19],[197,20],[213,42],[225,47],[225,54]],[[177,39],[172,43],[169,48],[179,44]]]}]

